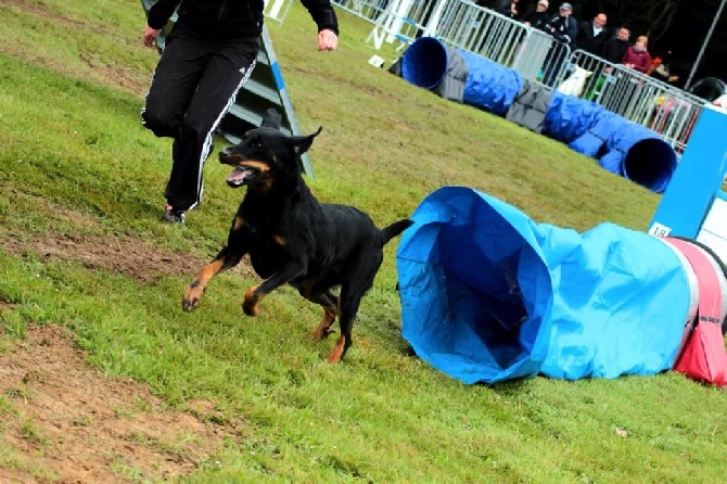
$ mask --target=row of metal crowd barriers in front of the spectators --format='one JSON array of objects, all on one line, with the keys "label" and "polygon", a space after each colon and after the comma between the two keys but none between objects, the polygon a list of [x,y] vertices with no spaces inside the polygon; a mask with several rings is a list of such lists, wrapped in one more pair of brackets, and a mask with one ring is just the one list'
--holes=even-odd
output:
[{"label": "row of metal crowd barriers in front of the spectators", "polygon": [[[585,51],[469,0],[333,0],[371,22],[375,49],[435,37],[484,56],[524,78],[592,101],[661,135],[680,153],[705,103],[688,92]],[[583,71],[579,71],[583,69]],[[586,74],[584,74],[584,71]],[[581,77],[585,77],[585,80]],[[572,85],[577,89],[573,90]]]}]

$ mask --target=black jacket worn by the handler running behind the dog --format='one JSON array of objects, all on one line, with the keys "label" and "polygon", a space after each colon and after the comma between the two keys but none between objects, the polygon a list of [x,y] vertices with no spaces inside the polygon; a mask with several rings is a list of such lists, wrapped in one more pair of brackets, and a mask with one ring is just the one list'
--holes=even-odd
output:
[{"label": "black jacket worn by the handler running behind the dog", "polygon": [[[339,22],[330,0],[301,0],[308,9],[318,31],[339,34]],[[162,28],[179,8],[180,27],[205,37],[245,38],[263,33],[263,0],[158,0],[149,9],[146,23]]]}]

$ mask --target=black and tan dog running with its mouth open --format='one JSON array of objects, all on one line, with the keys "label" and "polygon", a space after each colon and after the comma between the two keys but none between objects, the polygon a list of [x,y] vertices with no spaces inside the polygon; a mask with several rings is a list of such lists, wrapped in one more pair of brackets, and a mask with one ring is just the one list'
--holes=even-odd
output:
[{"label": "black and tan dog running with its mouth open", "polygon": [[[285,283],[293,285],[303,297],[323,307],[323,319],[311,333],[314,340],[327,336],[339,317],[341,336],[328,357],[329,362],[337,362],[352,344],[354,318],[373,284],[384,244],[411,221],[403,219],[378,229],[357,208],[318,202],[303,180],[299,156],[321,129],[307,137],[289,137],[278,129],[279,119],[279,114],[269,111],[260,128],[219,153],[221,163],[234,166],[228,184],[246,186],[247,191],[227,245],[187,288],[182,307],[194,309],[209,280],[250,254],[253,268],[265,280],[245,293],[244,313],[257,315],[266,294]],[[340,296],[332,292],[337,286]]]}]

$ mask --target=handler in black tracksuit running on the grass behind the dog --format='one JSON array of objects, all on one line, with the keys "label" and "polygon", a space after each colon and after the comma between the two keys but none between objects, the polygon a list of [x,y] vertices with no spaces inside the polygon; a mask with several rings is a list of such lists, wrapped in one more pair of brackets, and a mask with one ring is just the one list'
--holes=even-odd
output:
[{"label": "handler in black tracksuit running on the grass behind the dog", "polygon": [[[318,27],[318,50],[335,49],[339,21],[330,0],[302,3]],[[146,129],[174,140],[164,222],[183,224],[184,213],[200,203],[215,129],[255,67],[263,7],[262,0],[158,0],[149,9],[142,35],[146,47],[178,15],[141,112]]]}]

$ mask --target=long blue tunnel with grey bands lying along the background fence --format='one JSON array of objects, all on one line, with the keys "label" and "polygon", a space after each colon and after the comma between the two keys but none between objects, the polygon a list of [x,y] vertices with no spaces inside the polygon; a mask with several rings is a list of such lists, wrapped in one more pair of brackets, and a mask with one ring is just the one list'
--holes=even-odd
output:
[{"label": "long blue tunnel with grey bands lying along the background fence", "polygon": [[[447,48],[433,37],[422,37],[406,50],[400,74],[410,84],[443,98],[506,116],[515,98],[522,97],[522,90],[534,86],[525,82],[516,71],[464,50]],[[537,132],[598,158],[604,169],[651,191],[661,193],[666,189],[677,156],[656,133],[570,94],[553,91],[548,101]]]}]

